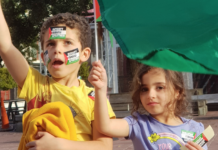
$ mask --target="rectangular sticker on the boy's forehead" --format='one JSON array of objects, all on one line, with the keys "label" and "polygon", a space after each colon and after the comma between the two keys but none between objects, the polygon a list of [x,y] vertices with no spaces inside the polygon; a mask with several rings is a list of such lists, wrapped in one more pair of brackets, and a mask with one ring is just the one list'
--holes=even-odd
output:
[{"label": "rectangular sticker on the boy's forehead", "polygon": [[49,28],[49,39],[65,39],[66,38],[66,27],[50,27]]}]

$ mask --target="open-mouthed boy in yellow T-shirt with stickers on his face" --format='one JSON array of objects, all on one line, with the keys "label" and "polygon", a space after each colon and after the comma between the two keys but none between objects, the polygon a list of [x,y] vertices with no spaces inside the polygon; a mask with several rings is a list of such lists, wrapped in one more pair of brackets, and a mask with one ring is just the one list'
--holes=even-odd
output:
[{"label": "open-mouthed boy in yellow T-shirt with stickers on his face", "polygon": [[[69,13],[50,17],[41,28],[41,57],[52,77],[42,76],[28,65],[22,54],[13,46],[9,29],[0,5],[0,56],[18,84],[18,94],[28,104],[28,110],[45,103],[62,101],[73,113],[77,140],[69,141],[38,132],[36,141],[28,143],[29,150],[107,150],[112,139],[96,130],[94,121],[93,89],[85,86],[77,74],[82,62],[91,53],[89,24],[80,16]],[[109,116],[114,113],[108,103]],[[93,140],[93,141],[91,141]],[[83,142],[81,142],[83,141]]]}]

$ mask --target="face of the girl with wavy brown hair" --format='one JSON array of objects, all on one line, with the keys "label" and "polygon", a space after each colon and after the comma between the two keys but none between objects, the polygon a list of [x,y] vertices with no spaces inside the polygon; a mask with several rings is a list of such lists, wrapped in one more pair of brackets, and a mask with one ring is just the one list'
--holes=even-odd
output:
[{"label": "face of the girl with wavy brown hair", "polygon": [[151,69],[142,76],[140,100],[151,115],[162,115],[168,112],[172,97],[166,85],[165,74],[160,69]]}]

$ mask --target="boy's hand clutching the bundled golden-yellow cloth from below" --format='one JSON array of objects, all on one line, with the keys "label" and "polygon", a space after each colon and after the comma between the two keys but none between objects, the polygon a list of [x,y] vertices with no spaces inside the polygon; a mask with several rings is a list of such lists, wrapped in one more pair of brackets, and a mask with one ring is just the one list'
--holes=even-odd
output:
[{"label": "boy's hand clutching the bundled golden-yellow cloth from below", "polygon": [[54,150],[60,146],[57,138],[47,132],[38,132],[35,137],[37,140],[26,144],[28,150]]}]

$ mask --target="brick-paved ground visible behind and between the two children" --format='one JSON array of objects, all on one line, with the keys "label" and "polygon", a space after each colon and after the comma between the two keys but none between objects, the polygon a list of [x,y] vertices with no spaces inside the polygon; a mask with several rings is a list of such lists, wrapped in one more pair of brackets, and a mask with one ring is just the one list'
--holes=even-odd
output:
[{"label": "brick-paved ground visible behind and between the two children", "polygon": [[[206,116],[195,117],[194,120],[202,122],[205,127],[211,125],[215,132],[215,137],[208,143],[209,150],[218,149],[218,111],[208,112]],[[17,150],[22,133],[0,132],[0,150]],[[113,150],[133,150],[132,142],[119,138],[114,141]]]}]

